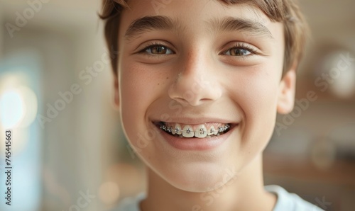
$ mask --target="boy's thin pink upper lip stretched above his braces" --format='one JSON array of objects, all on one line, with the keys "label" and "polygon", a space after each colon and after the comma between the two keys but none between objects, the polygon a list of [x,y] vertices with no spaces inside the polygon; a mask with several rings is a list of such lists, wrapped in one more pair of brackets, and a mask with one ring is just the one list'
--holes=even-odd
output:
[{"label": "boy's thin pink upper lip stretched above his braces", "polygon": [[153,119],[152,122],[170,122],[179,123],[182,125],[202,125],[204,123],[223,123],[223,124],[233,124],[237,123],[236,120],[224,119],[224,118],[214,118],[214,117],[202,117],[202,118],[191,118],[191,117],[174,117],[168,118],[168,120],[160,120],[158,118]]}]

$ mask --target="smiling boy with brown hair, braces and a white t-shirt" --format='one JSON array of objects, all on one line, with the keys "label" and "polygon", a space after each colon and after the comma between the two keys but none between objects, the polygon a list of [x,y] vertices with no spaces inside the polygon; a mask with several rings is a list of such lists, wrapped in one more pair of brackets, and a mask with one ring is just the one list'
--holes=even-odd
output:
[{"label": "smiling boy with brown hair, braces and a white t-shirt", "polygon": [[102,18],[124,132],[148,166],[146,195],[118,210],[320,210],[263,186],[305,40],[293,0],[105,0]]}]

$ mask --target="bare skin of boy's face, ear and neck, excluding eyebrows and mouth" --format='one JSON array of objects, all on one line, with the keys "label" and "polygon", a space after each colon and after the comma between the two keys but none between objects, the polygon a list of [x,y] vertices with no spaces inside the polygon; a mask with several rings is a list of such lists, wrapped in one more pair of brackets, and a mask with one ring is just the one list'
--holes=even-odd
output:
[{"label": "bare skin of boy's face, ear and neck, excluding eyebrows and mouth", "polygon": [[[295,95],[295,68],[282,74],[283,25],[256,7],[219,1],[171,1],[158,13],[151,1],[129,6],[119,25],[114,84],[126,137],[148,166],[141,210],[272,210],[276,197],[263,190],[262,152],[276,113],[290,112]],[[180,27],[125,36],[133,21],[157,15]],[[210,25],[226,17],[260,23],[270,34]],[[160,46],[147,49],[151,44]],[[171,147],[152,122],[212,117],[238,127],[204,151]]]}]

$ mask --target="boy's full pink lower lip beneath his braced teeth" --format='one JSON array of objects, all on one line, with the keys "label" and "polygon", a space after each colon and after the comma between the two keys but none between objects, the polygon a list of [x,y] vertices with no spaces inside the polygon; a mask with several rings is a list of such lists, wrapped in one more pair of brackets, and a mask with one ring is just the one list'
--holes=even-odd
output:
[{"label": "boy's full pink lower lip beneath his braced teeth", "polygon": [[180,138],[160,130],[160,134],[163,136],[165,141],[167,141],[171,146],[176,149],[181,150],[193,150],[193,151],[203,151],[208,149],[214,149],[219,147],[226,139],[231,135],[231,132],[235,129],[236,126],[231,128],[228,132],[223,135],[209,137],[209,138]]}]

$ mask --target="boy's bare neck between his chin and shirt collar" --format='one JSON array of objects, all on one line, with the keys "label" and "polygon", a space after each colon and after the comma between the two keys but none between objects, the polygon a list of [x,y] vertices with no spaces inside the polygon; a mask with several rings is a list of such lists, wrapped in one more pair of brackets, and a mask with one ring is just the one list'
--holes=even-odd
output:
[{"label": "boy's bare neck between his chin and shirt collar", "polygon": [[[265,210],[275,205],[275,195],[263,188],[262,157],[258,156],[241,175],[223,187],[206,193],[192,193],[171,186],[148,169],[148,194],[141,203],[142,211],[160,210]],[[258,203],[256,203],[258,202]]]}]

